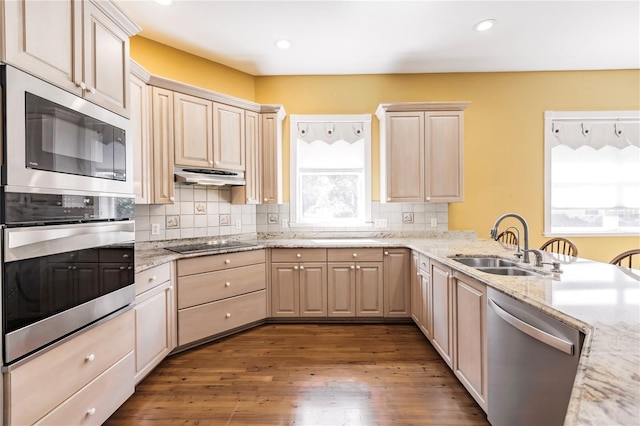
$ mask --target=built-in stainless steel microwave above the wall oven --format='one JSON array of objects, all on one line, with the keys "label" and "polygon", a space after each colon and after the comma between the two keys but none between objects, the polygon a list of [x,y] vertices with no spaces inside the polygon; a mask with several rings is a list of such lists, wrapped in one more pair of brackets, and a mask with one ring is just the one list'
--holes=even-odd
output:
[{"label": "built-in stainless steel microwave above the wall oven", "polygon": [[5,191],[133,194],[128,119],[8,65],[0,77]]}]

